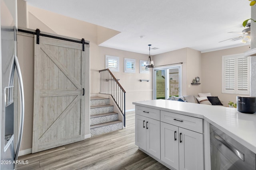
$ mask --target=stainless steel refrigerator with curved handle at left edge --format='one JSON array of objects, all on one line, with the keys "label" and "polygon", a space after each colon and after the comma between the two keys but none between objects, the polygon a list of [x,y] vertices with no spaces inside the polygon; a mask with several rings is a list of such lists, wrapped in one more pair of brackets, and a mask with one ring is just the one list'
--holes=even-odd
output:
[{"label": "stainless steel refrigerator with curved handle at left edge", "polygon": [[[16,160],[20,149],[24,122],[22,76],[18,57],[16,56],[17,1],[0,0],[0,16],[0,169],[8,170],[14,169],[18,163]],[[19,90],[14,88],[14,76],[18,77],[17,86],[19,86]],[[19,94],[16,91],[19,91]],[[17,95],[15,96],[15,94]],[[19,96],[19,100],[16,100],[17,96]],[[19,101],[20,104],[17,104],[16,101]],[[15,108],[19,106],[19,113],[16,111],[18,109],[14,109],[14,106]],[[18,119],[19,121],[15,123],[14,120]]]}]

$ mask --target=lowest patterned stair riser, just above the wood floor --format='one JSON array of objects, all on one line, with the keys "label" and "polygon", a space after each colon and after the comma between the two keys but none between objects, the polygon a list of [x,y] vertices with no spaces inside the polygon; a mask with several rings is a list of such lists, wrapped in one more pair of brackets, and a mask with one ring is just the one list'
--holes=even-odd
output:
[{"label": "lowest patterned stair riser, just above the wood floor", "polygon": [[97,135],[101,135],[104,133],[110,133],[113,131],[118,131],[123,129],[123,124],[122,123],[116,123],[116,124],[112,124],[112,125],[107,125],[107,126],[102,126],[102,127],[97,127],[94,129],[90,129],[90,134],[91,137],[93,136],[97,136]]}]

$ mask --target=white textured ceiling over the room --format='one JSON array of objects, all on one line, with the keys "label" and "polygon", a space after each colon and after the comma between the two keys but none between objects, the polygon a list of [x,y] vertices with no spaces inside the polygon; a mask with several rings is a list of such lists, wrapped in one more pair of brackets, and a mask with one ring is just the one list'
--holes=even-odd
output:
[{"label": "white textured ceiling over the room", "polygon": [[[248,0],[26,0],[28,5],[114,29],[104,47],[156,55],[184,47],[215,51],[243,44],[219,41],[240,36],[250,18]],[[143,36],[144,38],[140,38]]]}]

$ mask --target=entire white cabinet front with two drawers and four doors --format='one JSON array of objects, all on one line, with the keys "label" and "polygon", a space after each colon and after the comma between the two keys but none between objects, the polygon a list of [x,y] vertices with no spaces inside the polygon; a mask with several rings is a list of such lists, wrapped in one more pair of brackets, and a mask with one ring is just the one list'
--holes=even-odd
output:
[{"label": "entire white cabinet front with two drawers and four doors", "polygon": [[203,170],[203,121],[197,117],[135,106],[135,144],[176,170]]}]

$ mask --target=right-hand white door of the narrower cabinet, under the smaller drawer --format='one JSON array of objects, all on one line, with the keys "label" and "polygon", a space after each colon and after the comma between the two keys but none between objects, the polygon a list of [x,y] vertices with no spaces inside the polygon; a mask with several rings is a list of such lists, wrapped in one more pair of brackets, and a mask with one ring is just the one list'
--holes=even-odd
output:
[{"label": "right-hand white door of the narrower cabinet, under the smaller drawer", "polygon": [[146,118],[146,151],[160,159],[160,121]]}]

